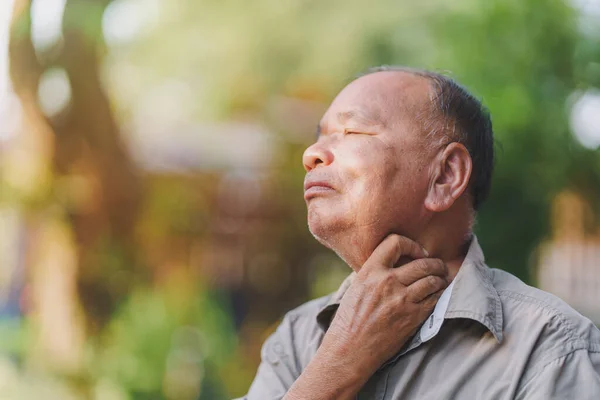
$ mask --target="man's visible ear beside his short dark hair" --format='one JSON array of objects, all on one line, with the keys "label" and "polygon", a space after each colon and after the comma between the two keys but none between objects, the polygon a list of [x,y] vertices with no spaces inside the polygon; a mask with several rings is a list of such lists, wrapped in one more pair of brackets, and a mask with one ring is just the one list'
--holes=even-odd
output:
[{"label": "man's visible ear beside his short dark hair", "polygon": [[438,155],[433,166],[425,208],[433,212],[449,209],[469,185],[473,161],[469,151],[461,143],[450,143]]}]

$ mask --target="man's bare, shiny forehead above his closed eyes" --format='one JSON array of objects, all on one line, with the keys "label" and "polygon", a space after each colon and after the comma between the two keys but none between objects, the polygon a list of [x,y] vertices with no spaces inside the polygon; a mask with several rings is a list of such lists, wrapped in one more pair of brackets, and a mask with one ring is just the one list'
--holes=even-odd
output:
[{"label": "man's bare, shiny forehead above his closed eyes", "polygon": [[333,100],[322,123],[357,120],[383,126],[410,121],[429,104],[427,78],[403,71],[381,71],[352,81]]}]

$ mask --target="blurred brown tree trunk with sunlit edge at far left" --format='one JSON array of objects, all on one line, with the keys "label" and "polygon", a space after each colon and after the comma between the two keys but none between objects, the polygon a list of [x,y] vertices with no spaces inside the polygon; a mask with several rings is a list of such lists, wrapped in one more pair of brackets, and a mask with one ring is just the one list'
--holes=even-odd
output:
[{"label": "blurred brown tree trunk with sunlit edge at far left", "polygon": [[[15,0],[9,41],[10,78],[23,123],[11,148],[19,156],[8,160],[8,180],[21,202],[33,205],[26,218],[28,292],[40,351],[34,358],[70,372],[81,366],[85,335],[102,330],[139,272],[134,228],[140,178],[99,74],[108,3],[67,1],[63,46],[50,58],[36,56],[31,1]],[[48,118],[38,86],[50,63],[66,71],[71,101]]]}]

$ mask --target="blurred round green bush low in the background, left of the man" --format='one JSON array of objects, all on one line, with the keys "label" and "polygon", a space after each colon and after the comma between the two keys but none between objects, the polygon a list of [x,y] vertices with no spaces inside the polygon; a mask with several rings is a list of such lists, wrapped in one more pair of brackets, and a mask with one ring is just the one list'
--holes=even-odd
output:
[{"label": "blurred round green bush low in the background, left of the man", "polygon": [[[235,348],[222,301],[210,290],[181,295],[176,288],[139,288],[90,353],[90,371],[125,388],[133,398],[166,392],[216,391],[221,383],[206,365],[221,368]],[[186,385],[188,387],[186,387]]]}]

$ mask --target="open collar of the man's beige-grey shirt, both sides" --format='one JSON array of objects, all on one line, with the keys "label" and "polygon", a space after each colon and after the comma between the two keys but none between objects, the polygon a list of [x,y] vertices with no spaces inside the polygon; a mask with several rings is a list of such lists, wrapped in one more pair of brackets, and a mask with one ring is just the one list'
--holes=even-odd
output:
[{"label": "open collar of the man's beige-grey shirt, both sides", "polygon": [[[458,270],[451,286],[444,292],[444,302],[431,315],[432,321],[439,320],[439,325],[446,319],[468,318],[479,322],[494,335],[498,342],[502,341],[502,304],[500,297],[492,284],[491,270],[484,263],[484,256],[477,238],[473,235],[469,250]],[[356,275],[350,274],[327,304],[317,314],[317,323],[324,331],[340,305],[340,301],[352,284]],[[448,294],[446,294],[448,292]],[[438,302],[439,303],[439,302]],[[444,310],[445,309],[445,310]],[[443,318],[433,318],[443,314]],[[433,335],[427,335],[428,340],[437,334],[440,326]],[[431,327],[430,327],[431,329]],[[423,333],[422,333],[423,334]]]}]

